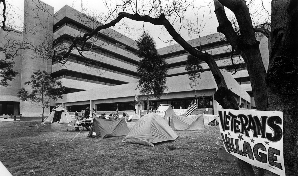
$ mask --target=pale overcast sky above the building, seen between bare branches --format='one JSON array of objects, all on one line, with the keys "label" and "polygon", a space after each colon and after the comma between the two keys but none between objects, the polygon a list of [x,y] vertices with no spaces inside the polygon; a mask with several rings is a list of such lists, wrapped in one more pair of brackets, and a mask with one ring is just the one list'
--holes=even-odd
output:
[{"label": "pale overcast sky above the building, seen between bare branches", "polygon": [[[24,9],[24,0],[8,0],[10,1],[10,4],[18,7],[20,10],[17,11],[20,15],[23,16],[22,10]],[[112,0],[115,2],[116,0]],[[112,2],[111,1],[111,2]],[[208,2],[211,0],[195,0],[195,4],[193,4],[195,7],[200,7],[201,5],[207,5]],[[258,0],[259,1],[259,0]],[[49,4],[50,6],[54,7],[54,12],[57,12],[60,10],[64,5],[69,5],[70,7],[75,8],[76,10],[80,11],[80,7],[82,6],[82,1],[81,0],[44,0],[46,4]],[[107,12],[107,9],[103,5],[103,2],[101,0],[83,0],[83,6],[87,9],[96,11],[96,12]],[[213,3],[209,7],[202,7],[199,11],[198,14],[200,18],[203,17],[204,13],[204,19],[203,19],[203,24],[205,24],[205,27],[200,33],[200,36],[205,36],[209,35],[212,33],[216,33],[216,29],[218,27],[218,22],[216,19],[216,16],[214,14],[214,6]],[[267,8],[267,10],[270,10],[270,3],[269,0],[264,1],[264,6]],[[187,9],[186,11],[186,17],[189,20],[195,20],[194,18],[194,12],[197,10],[193,10],[192,8]],[[231,15],[231,13],[227,12],[227,15]],[[199,19],[202,20],[202,19]],[[128,20],[127,20],[128,21]],[[128,21],[130,26],[136,26],[137,28],[141,28],[143,26],[142,22],[139,21]],[[150,35],[153,36],[156,42],[157,48],[165,47],[168,46],[172,43],[165,43],[164,41],[171,40],[172,38],[170,35],[167,33],[167,31],[162,31],[162,28],[159,26],[152,25],[150,23],[145,23],[144,24],[145,30],[149,32]],[[125,31],[117,30],[120,33],[125,33]],[[127,34],[128,37],[137,40],[139,36],[142,34],[143,30],[139,31],[134,31],[131,32],[130,34]],[[192,35],[189,36],[187,30],[182,30],[180,32],[180,35],[185,39],[185,40],[190,40],[194,38],[198,38],[198,35]],[[161,39],[159,39],[161,38]]]}]

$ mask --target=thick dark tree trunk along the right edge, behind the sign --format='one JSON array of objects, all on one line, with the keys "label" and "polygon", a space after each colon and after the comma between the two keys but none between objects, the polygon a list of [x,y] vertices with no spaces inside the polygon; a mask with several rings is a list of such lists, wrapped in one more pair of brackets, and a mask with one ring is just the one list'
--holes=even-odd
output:
[{"label": "thick dark tree trunk along the right edge, behind the sign", "polygon": [[298,1],[272,1],[271,6],[268,110],[283,112],[285,172],[294,176],[298,175]]}]

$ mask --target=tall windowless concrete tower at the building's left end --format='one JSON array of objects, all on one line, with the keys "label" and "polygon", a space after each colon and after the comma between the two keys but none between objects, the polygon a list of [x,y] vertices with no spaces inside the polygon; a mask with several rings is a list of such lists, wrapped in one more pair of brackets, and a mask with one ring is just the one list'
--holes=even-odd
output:
[{"label": "tall windowless concrete tower at the building's left end", "polygon": [[[41,42],[49,42],[49,46],[52,45],[51,40],[53,37],[53,24],[54,24],[54,8],[44,4],[41,1],[34,0],[24,1],[24,41],[32,45],[39,46]],[[35,4],[46,9],[49,13],[43,12],[36,7]],[[29,49],[26,49],[22,53],[22,69],[21,69],[21,85],[29,92],[31,92],[30,86],[25,86],[24,83],[30,80],[30,76],[36,70],[46,70],[52,72],[52,64],[50,60],[44,60],[44,58],[36,58],[36,54]],[[23,116],[40,116],[42,108],[40,106],[31,104],[27,101],[21,101],[20,113]],[[49,109],[45,109],[45,114],[49,113]]]}]

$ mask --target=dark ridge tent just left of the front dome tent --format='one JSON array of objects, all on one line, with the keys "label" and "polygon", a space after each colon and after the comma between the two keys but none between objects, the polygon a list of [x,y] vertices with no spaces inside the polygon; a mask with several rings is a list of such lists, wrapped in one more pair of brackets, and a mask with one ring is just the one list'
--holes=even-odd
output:
[{"label": "dark ridge tent just left of the front dome tent", "polygon": [[114,136],[123,136],[129,133],[125,118],[102,119],[95,118],[89,131],[88,137],[107,138]]}]

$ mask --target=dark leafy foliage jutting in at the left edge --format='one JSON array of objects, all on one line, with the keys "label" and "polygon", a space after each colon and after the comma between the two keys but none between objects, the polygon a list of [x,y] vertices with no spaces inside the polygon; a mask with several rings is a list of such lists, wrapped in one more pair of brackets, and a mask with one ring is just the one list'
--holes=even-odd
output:
[{"label": "dark leafy foliage jutting in at the left edge", "polygon": [[0,47],[0,53],[3,52],[5,54],[5,58],[0,59],[0,85],[1,86],[9,86],[7,81],[12,81],[16,75],[19,73],[13,70],[14,62],[13,55],[5,52],[3,48]]}]

